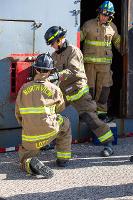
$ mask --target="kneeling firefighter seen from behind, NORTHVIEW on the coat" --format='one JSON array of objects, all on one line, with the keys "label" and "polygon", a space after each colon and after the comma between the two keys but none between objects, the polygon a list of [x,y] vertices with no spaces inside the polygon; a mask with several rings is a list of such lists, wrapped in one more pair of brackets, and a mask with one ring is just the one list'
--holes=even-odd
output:
[{"label": "kneeling firefighter seen from behind, NORTHVIEW on the coat", "polygon": [[41,54],[34,65],[34,80],[20,89],[16,100],[16,118],[22,125],[19,158],[22,169],[30,174],[51,178],[53,171],[36,157],[40,149],[56,138],[56,164],[64,167],[71,158],[69,120],[61,116],[65,108],[62,92],[49,81],[54,69],[49,54]]}]

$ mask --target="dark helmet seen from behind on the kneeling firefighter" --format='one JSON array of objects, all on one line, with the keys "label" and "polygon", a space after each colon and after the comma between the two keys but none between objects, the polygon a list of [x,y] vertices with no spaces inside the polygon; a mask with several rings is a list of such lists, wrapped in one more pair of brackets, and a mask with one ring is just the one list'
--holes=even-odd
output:
[{"label": "dark helmet seen from behind on the kneeling firefighter", "polygon": [[43,71],[43,70],[51,71],[51,70],[55,69],[54,61],[51,58],[49,53],[43,53],[43,54],[38,55],[33,64],[33,67],[37,70],[39,69],[39,71],[40,70],[41,71]]}]

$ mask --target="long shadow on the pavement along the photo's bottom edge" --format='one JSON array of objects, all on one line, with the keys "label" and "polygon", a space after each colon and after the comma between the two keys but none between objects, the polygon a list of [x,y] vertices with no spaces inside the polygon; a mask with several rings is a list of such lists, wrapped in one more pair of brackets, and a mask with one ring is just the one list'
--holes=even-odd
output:
[{"label": "long shadow on the pavement along the photo's bottom edge", "polygon": [[48,193],[20,194],[9,197],[9,200],[103,200],[106,198],[122,198],[133,196],[133,184],[113,186],[76,187]]}]

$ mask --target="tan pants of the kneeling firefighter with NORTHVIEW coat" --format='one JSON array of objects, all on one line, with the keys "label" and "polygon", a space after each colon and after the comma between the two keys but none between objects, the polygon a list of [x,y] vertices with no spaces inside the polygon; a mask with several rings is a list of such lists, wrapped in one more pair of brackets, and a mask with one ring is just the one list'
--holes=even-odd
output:
[{"label": "tan pants of the kneeling firefighter with NORTHVIEW coat", "polygon": [[[69,119],[64,117],[64,124],[60,127],[60,131],[56,136],[53,136],[49,139],[48,143],[46,143],[44,146],[49,144],[51,141],[56,139],[56,154],[58,159],[70,159],[71,158],[71,142],[72,142],[72,136],[71,136],[71,127]],[[35,157],[39,154],[39,149],[30,149],[27,148],[27,145],[20,145],[19,147],[19,159],[20,159],[20,165],[23,170],[26,170],[26,160],[28,158]]]}]

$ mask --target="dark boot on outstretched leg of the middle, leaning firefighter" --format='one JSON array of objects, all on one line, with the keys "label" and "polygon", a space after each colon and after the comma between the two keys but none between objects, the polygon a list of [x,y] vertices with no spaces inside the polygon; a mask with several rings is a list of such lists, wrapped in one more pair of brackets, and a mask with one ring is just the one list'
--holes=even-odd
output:
[{"label": "dark boot on outstretched leg of the middle, leaning firefighter", "polygon": [[101,152],[101,156],[109,157],[114,153],[112,143],[107,143],[104,145],[104,149]]}]

